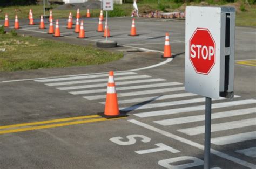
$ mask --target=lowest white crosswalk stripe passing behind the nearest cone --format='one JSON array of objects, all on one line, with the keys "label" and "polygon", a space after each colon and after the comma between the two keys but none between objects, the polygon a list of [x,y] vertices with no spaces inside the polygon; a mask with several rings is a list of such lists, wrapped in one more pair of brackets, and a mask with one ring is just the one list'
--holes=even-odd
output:
[{"label": "lowest white crosswalk stripe passing behind the nearest cone", "polygon": [[[157,100],[164,100],[169,98],[180,98],[180,97],[189,97],[189,96],[198,96],[198,95],[193,93],[179,93],[179,94],[159,95],[159,96],[151,96],[151,97],[143,97],[143,98],[131,98],[126,100],[118,100],[118,104],[157,101]],[[100,102],[100,103],[105,104],[105,102]]]}]

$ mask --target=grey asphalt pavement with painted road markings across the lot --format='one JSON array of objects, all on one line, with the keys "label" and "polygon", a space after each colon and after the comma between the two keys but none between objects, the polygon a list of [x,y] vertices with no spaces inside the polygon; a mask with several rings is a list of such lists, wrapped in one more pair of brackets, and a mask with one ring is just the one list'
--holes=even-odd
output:
[{"label": "grey asphalt pavement with painted road markings across the lot", "polygon": [[[65,29],[54,38],[21,20],[18,33],[95,45]],[[0,22],[2,24],[3,21]],[[124,58],[103,65],[0,73],[1,168],[203,168],[205,98],[184,90],[185,22],[110,18]],[[255,29],[236,27],[233,100],[212,101],[211,168],[256,168]],[[174,55],[162,59],[165,33]],[[119,109],[105,119],[107,73],[114,71]]]}]

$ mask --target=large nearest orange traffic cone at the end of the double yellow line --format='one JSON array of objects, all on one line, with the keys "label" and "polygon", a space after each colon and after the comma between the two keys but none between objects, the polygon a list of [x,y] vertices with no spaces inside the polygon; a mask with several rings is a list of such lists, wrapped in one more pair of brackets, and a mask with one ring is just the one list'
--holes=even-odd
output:
[{"label": "large nearest orange traffic cone at the end of the double yellow line", "polygon": [[99,115],[102,115],[105,118],[116,118],[126,116],[126,114],[120,114],[119,112],[113,71],[109,72],[109,82],[107,83],[107,94],[104,114]]}]

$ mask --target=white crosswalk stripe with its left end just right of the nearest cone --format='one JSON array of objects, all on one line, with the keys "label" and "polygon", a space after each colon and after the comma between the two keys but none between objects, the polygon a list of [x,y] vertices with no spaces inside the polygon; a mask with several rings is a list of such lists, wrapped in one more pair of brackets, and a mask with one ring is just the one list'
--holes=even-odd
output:
[{"label": "white crosswalk stripe with its left end just right of the nearest cone", "polygon": [[[220,98],[221,100],[225,99],[223,97]],[[199,103],[204,102],[205,98],[193,98],[189,100],[180,100],[180,101],[171,101],[171,102],[161,102],[161,103],[149,103],[144,105],[133,105],[131,107],[120,108],[123,111],[131,111],[131,110],[140,110],[140,109],[150,109],[150,108],[158,108],[158,107],[170,107],[173,105],[181,105],[181,104],[191,104],[191,103]]]}]

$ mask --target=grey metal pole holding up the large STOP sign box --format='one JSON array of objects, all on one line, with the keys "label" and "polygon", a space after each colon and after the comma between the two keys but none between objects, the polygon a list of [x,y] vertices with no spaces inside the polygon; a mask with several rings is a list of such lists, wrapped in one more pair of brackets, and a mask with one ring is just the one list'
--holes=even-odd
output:
[{"label": "grey metal pole holding up the large STOP sign box", "polygon": [[212,98],[205,97],[205,150],[204,150],[204,169],[210,168],[211,160],[211,113]]}]

